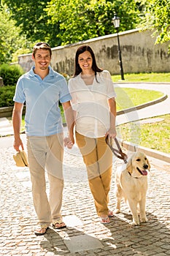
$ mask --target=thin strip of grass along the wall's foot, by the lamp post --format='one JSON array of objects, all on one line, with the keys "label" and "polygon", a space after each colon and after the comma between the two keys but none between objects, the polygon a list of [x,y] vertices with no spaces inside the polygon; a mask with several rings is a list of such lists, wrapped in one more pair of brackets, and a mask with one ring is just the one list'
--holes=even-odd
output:
[{"label": "thin strip of grass along the wall's foot, by the lamp post", "polygon": [[[125,74],[125,80],[121,82],[163,82],[170,83],[170,73],[138,73],[138,74]],[[120,82],[120,75],[112,75],[114,82]]]}]

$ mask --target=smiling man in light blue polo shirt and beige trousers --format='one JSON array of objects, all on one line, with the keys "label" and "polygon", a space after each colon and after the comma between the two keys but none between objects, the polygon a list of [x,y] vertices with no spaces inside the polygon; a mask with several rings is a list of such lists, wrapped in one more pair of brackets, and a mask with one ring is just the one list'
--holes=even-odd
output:
[{"label": "smiling man in light blue polo shirt and beige trousers", "polygon": [[[66,116],[70,138],[72,135],[72,108],[66,80],[49,65],[52,51],[46,42],[34,45],[34,67],[18,79],[14,96],[12,124],[14,148],[20,151],[20,124],[23,103],[26,102],[26,142],[28,164],[31,173],[34,208],[39,219],[36,236],[44,235],[50,223],[55,228],[66,227],[61,216],[63,193],[63,127],[60,100]],[[50,182],[50,197],[47,199],[45,170]]]}]

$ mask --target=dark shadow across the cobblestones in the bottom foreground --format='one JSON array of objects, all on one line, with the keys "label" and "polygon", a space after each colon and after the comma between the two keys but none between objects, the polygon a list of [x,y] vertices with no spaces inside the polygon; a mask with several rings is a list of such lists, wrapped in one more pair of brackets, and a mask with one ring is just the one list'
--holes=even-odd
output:
[{"label": "dark shadow across the cobblestones in the bottom foreground", "polygon": [[[102,252],[121,256],[152,255],[151,252],[166,255],[169,252],[169,228],[159,222],[154,214],[147,213],[148,222],[136,227],[131,225],[131,214],[123,215],[124,219],[120,219],[117,214],[111,218],[109,225],[104,226],[110,231],[110,236],[97,239],[97,245],[96,241],[92,241],[93,245],[89,243],[86,246],[88,239],[96,239],[93,234],[85,234],[78,227],[68,227],[64,230],[47,230],[46,240],[41,241],[40,246],[44,252],[53,252],[54,255],[103,255]],[[69,245],[66,241],[70,241]]]}]

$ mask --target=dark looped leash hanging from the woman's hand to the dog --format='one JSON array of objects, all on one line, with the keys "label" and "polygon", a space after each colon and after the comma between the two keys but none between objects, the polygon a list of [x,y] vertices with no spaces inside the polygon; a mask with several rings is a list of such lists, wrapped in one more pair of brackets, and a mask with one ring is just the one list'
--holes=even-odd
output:
[{"label": "dark looped leash hanging from the woman's hand to the dog", "polygon": [[115,143],[117,145],[118,150],[116,148],[112,147],[112,138],[109,139],[108,135],[106,137],[106,143],[109,146],[109,148],[112,150],[113,154],[115,154],[116,157],[118,157],[119,159],[122,159],[125,162],[125,164],[127,164],[128,156],[127,156],[127,154],[123,153],[122,149],[120,148],[117,138],[115,138]]}]

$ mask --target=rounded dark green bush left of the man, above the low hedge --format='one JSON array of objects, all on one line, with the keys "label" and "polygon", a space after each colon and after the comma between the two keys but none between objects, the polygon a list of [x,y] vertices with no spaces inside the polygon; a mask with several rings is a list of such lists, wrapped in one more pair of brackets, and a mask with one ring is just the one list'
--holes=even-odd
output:
[{"label": "rounded dark green bush left of the man, above the low hedge", "polygon": [[4,86],[15,86],[20,75],[23,75],[23,69],[19,65],[2,64],[0,67],[0,77],[3,78]]}]

